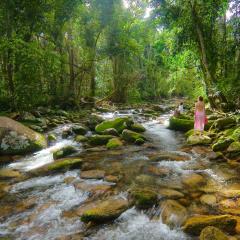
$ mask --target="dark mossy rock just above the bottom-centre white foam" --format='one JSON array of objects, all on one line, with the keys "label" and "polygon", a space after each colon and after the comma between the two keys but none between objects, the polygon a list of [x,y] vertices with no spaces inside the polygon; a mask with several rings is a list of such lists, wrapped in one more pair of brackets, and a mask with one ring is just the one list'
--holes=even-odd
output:
[{"label": "dark mossy rock just above the bottom-centre white foam", "polygon": [[131,190],[135,204],[140,209],[147,209],[157,203],[158,194],[149,188],[134,188]]}]

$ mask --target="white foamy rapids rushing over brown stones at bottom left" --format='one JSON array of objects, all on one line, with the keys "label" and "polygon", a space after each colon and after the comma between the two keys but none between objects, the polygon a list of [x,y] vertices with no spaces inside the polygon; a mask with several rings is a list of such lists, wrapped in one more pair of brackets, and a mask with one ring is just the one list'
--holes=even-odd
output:
[{"label": "white foamy rapids rushing over brown stones at bottom left", "polygon": [[[36,206],[28,212],[9,218],[4,225],[0,226],[0,233],[4,229],[9,229],[17,219],[24,220],[28,216],[32,216],[30,222],[20,224],[11,231],[16,239],[35,240],[44,238],[50,240],[66,235],[66,233],[70,234],[79,231],[82,226],[80,219],[65,219],[62,217],[62,213],[79,206],[88,198],[88,193],[75,189],[73,185],[65,184],[64,178],[69,176],[79,179],[77,172],[72,171],[57,176],[34,178],[15,184],[12,193],[21,193],[28,198],[37,197]],[[39,189],[39,187],[47,187],[47,189]],[[43,229],[44,232],[38,233],[35,231],[38,228]],[[5,230],[6,233],[7,230]]]}]

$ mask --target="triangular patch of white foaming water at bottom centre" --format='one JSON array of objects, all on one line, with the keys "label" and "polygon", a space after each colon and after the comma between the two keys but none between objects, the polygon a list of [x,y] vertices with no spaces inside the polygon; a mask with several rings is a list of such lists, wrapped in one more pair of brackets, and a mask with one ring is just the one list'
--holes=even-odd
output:
[{"label": "triangular patch of white foaming water at bottom centre", "polygon": [[123,213],[114,226],[106,226],[85,240],[188,240],[180,230],[171,230],[161,220],[152,221],[132,208]]}]

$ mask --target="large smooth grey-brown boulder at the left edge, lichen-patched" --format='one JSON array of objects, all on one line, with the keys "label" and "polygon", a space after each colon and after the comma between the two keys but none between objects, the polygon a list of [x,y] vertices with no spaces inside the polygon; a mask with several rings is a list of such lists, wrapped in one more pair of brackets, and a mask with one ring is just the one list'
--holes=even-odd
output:
[{"label": "large smooth grey-brown boulder at the left edge, lichen-patched", "polygon": [[7,117],[0,117],[0,154],[22,155],[47,147],[43,135]]}]

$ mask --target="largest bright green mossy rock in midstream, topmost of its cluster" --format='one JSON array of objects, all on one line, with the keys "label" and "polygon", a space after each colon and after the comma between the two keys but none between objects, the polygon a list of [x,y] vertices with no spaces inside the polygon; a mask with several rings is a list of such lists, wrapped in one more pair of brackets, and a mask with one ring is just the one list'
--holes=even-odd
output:
[{"label": "largest bright green mossy rock in midstream, topmost of its cluster", "polygon": [[107,120],[98,124],[95,128],[97,133],[102,133],[109,128],[114,128],[118,133],[121,133],[126,128],[128,118],[116,118],[114,120]]}]

